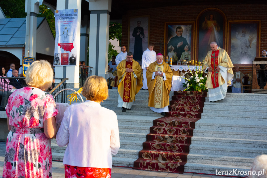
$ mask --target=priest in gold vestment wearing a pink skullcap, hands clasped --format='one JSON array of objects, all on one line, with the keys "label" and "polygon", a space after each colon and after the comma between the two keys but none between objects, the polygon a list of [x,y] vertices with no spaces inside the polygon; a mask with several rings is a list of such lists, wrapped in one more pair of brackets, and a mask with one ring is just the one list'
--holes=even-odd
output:
[{"label": "priest in gold vestment wearing a pink skullcap, hands clasped", "polygon": [[173,72],[170,66],[162,61],[162,54],[158,53],[157,61],[151,63],[146,71],[147,86],[149,91],[148,106],[154,112],[169,112],[169,94]]}]

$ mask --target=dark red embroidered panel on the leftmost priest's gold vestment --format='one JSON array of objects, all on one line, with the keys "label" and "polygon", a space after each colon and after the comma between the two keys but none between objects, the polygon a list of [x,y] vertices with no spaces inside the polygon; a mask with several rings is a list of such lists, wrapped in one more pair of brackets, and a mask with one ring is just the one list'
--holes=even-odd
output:
[{"label": "dark red embroidered panel on the leftmost priest's gold vestment", "polygon": [[[125,68],[131,69],[133,62],[126,61]],[[129,102],[130,94],[131,94],[131,74],[132,72],[126,72],[126,76],[124,78],[124,89],[123,89],[123,102]]]}]

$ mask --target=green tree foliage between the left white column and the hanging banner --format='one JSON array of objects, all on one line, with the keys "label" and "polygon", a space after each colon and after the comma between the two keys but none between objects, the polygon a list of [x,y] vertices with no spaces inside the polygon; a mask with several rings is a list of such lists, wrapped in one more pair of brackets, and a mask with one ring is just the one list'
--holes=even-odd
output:
[{"label": "green tree foliage between the left white column and the hanging banner", "polygon": [[55,27],[55,17],[54,17],[54,13],[51,11],[50,8],[48,8],[47,6],[45,6],[44,4],[42,4],[41,6],[39,6],[39,14],[37,15],[37,17],[45,17],[49,27],[51,29],[51,32],[54,36],[54,38],[56,37],[56,27]]}]

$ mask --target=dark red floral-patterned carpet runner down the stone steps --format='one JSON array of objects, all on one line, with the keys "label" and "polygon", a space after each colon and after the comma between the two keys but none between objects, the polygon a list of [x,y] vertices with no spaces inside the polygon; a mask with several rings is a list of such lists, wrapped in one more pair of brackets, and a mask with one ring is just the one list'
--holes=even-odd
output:
[{"label": "dark red floral-patterned carpet runner down the stone steps", "polygon": [[207,92],[174,91],[169,113],[153,121],[133,169],[183,173]]}]

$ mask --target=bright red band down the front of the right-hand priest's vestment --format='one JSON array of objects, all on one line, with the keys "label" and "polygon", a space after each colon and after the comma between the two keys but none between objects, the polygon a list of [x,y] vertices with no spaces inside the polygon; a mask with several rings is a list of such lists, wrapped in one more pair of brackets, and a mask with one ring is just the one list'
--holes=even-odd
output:
[{"label": "bright red band down the front of the right-hand priest's vestment", "polygon": [[212,51],[211,53],[211,81],[213,88],[217,88],[219,86],[219,81],[218,81],[218,76],[219,72],[215,72],[216,67],[219,65],[219,50],[217,51]]}]

